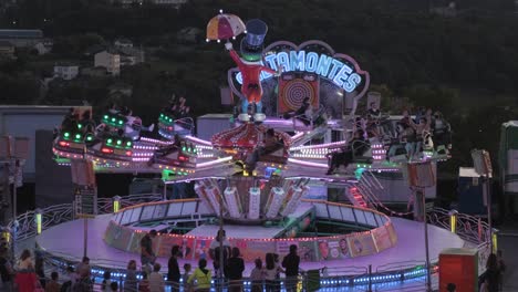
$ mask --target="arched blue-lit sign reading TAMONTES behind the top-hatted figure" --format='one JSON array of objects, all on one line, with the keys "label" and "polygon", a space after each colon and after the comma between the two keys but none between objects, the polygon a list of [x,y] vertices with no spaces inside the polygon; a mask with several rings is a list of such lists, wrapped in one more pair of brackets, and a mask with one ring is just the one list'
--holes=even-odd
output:
[{"label": "arched blue-lit sign reading TAMONTES behind the top-hatted figure", "polygon": [[[282,72],[307,72],[328,80],[348,93],[355,92],[355,100],[367,90],[370,83],[369,72],[360,69],[356,61],[346,55],[335,53],[333,49],[322,41],[307,41],[300,45],[279,41],[265,49],[263,65],[273,70],[282,67]],[[273,75],[262,72],[261,81]],[[228,72],[228,81],[232,91],[241,96],[234,81],[241,84],[241,73],[238,69]]]}]

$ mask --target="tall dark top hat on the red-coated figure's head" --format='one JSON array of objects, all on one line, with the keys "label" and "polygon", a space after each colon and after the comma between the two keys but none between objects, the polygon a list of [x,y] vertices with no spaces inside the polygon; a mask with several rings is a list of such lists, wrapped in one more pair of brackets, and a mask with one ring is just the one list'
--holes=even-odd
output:
[{"label": "tall dark top hat on the red-coated figure's head", "polygon": [[247,35],[241,40],[241,55],[247,61],[259,61],[265,49],[268,25],[260,19],[247,21]]}]

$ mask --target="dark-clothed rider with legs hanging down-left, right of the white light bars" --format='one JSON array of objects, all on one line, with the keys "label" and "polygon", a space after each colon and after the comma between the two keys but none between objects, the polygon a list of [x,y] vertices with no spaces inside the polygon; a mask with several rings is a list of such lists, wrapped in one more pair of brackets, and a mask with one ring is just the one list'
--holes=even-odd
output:
[{"label": "dark-clothed rider with legs hanging down-left, right of the white light bars", "polygon": [[370,147],[363,131],[354,132],[353,138],[341,148],[341,152],[331,153],[331,160],[327,175],[332,175],[341,165],[348,167],[354,157],[362,156]]}]

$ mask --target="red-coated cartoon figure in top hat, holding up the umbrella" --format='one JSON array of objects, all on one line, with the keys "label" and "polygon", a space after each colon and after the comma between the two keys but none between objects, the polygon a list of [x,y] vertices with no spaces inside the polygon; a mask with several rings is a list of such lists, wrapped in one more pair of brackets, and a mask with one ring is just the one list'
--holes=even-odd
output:
[{"label": "red-coated cartoon figure in top hat, holding up the umbrella", "polygon": [[256,104],[255,121],[261,122],[266,118],[265,114],[261,113],[262,86],[259,77],[262,71],[278,75],[274,70],[261,64],[263,41],[267,32],[268,25],[262,20],[252,19],[247,22],[247,36],[241,40],[241,56],[232,49],[231,42],[225,44],[242,76],[241,93],[246,100],[242,101],[241,114],[239,115],[239,119],[241,121],[249,119],[249,104]]}]

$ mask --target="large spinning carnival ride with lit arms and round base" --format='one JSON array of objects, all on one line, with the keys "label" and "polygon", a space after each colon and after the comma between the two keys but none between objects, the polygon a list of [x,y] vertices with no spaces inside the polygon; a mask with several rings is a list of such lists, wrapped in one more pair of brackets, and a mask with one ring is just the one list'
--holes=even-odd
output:
[{"label": "large spinning carnival ride with lit arms and round base", "polygon": [[[235,15],[219,15],[215,25],[222,25],[218,23],[225,23],[229,19],[236,21]],[[217,30],[213,28],[208,31]],[[242,28],[237,29],[238,33],[242,31]],[[225,35],[226,38],[210,38],[228,40],[232,36],[231,33]],[[318,44],[310,41],[304,45],[314,48]],[[293,46],[287,42],[283,45]],[[300,48],[307,48],[304,45]],[[322,48],[321,51],[332,51],[327,44]],[[349,62],[358,72],[356,75],[366,76],[365,82],[369,82],[369,73],[361,71],[352,58],[334,52],[331,56],[342,60],[340,62],[343,62],[343,66]],[[366,87],[369,84],[363,85]],[[361,95],[359,94],[360,97]],[[300,104],[300,94],[293,96],[293,101]],[[354,97],[354,103],[358,98]],[[317,96],[315,101],[318,100]],[[353,108],[355,107],[356,104]],[[354,115],[354,112],[346,116],[340,114],[338,118],[327,118],[323,108],[324,106],[319,105],[314,116],[304,113],[303,116],[291,115],[288,119],[282,115],[260,121],[242,118],[235,122],[229,129],[215,134],[210,140],[194,136],[193,119],[177,118],[170,107],[162,111],[158,117],[157,136],[160,138],[141,135],[143,127],[139,118],[112,111],[102,116],[103,126],[95,132],[81,132],[85,128],[81,121],[75,121],[77,128],[73,131],[62,126],[53,144],[53,153],[61,164],[74,159],[90,160],[99,173],[162,174],[166,185],[195,181],[194,190],[199,199],[128,206],[121,211],[115,210],[114,216],[95,219],[102,226],[101,229],[106,230],[106,244],[124,250],[128,253],[127,257],[137,252],[138,241],[143,232],[149,229],[148,226],[160,231],[159,255],[166,255],[172,244],[186,244],[191,251],[205,252],[207,242],[213,239],[209,233],[216,233],[219,227],[215,223],[220,222],[225,223],[231,241],[242,247],[244,257],[251,260],[266,251],[283,253],[287,243],[297,243],[313,250],[314,254],[308,255],[309,262],[343,258],[355,260],[360,257],[376,257],[380,252],[390,252],[392,258],[405,259],[404,250],[410,247],[402,244],[397,238],[407,240],[407,233],[421,229],[417,223],[393,219],[375,210],[377,208],[388,211],[388,215],[393,213],[376,197],[375,190],[382,186],[374,174],[405,174],[407,164],[435,164],[448,159],[449,154],[434,152],[431,134],[425,133],[422,136],[423,146],[411,145],[413,149],[417,148],[417,155],[408,155],[408,143],[401,139],[397,133],[397,118],[383,116],[375,123],[370,123],[372,121]],[[340,133],[339,137],[322,142],[322,136],[332,131]],[[363,133],[362,142],[352,143],[351,138],[358,133]],[[360,148],[363,150],[358,150]],[[351,152],[351,159],[335,171],[327,174],[331,157],[348,150]],[[331,184],[343,187],[345,197],[354,207],[304,200],[310,192],[311,180],[321,181],[325,187]],[[393,221],[397,223],[393,225]],[[315,225],[334,225],[339,228],[335,228],[338,231],[322,236],[322,231],[315,231]],[[354,228],[343,229],[351,225]],[[101,229],[96,231],[102,232]],[[322,229],[330,228],[328,226]],[[456,242],[455,247],[462,247],[455,234],[443,231],[436,230],[437,247],[444,246],[438,242],[448,240]],[[414,236],[417,237],[417,233]],[[52,244],[50,238],[52,236],[41,237],[40,244],[49,247]],[[320,242],[323,241],[327,242],[327,248],[321,247]],[[247,250],[247,247],[253,244],[265,249]],[[317,246],[319,250],[314,250]],[[350,250],[346,257],[343,255],[345,250]],[[328,251],[332,255],[328,257]],[[110,254],[108,252],[106,257]],[[189,259],[199,259],[200,254],[201,252],[196,255],[193,253]],[[419,261],[422,255],[419,253]],[[381,258],[383,257],[370,260],[377,261]],[[338,263],[327,263],[333,264]],[[390,262],[381,261],[376,264],[380,272],[375,281],[380,282],[424,275],[424,269],[418,268],[418,264],[410,264],[397,272],[384,268]],[[319,265],[318,269],[322,267]],[[366,283],[364,277],[355,273],[355,278],[353,274],[346,279],[340,278],[335,283]],[[335,277],[343,274],[336,272]]]}]

